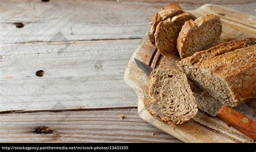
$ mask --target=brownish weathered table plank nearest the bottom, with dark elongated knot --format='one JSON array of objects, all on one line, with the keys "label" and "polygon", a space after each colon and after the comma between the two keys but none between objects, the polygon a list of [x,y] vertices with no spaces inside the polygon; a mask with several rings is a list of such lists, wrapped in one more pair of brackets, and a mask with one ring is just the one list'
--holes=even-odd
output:
[{"label": "brownish weathered table plank nearest the bottom, with dark elongated knot", "polygon": [[[0,142],[181,142],[140,119],[137,108],[8,113],[0,114],[0,124]],[[34,126],[54,131],[36,134]]]}]

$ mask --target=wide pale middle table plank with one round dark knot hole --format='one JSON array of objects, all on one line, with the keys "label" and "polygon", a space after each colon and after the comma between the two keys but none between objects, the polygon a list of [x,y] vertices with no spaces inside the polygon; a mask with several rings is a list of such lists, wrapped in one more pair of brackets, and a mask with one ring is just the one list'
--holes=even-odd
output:
[{"label": "wide pale middle table plank with one round dark knot hole", "polygon": [[62,52],[65,42],[23,43],[11,55],[12,44],[3,44],[0,111],[51,110],[59,101],[65,108],[137,106],[123,75],[139,41],[74,41]]}]

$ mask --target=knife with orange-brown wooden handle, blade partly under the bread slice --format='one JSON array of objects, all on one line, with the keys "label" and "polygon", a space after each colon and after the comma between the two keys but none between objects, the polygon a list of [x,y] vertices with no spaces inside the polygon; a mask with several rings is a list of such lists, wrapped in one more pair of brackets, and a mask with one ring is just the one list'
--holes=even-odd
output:
[{"label": "knife with orange-brown wooden handle, blade partly under the bread slice", "polygon": [[[134,60],[138,67],[142,69],[147,76],[150,76],[153,69],[136,58],[134,58]],[[226,124],[256,141],[256,122],[254,120],[251,120],[245,115],[220,102],[213,102],[211,100],[206,101],[207,102],[203,102],[203,100],[196,101],[200,110],[212,115],[213,117],[217,116],[219,119],[226,122]]]}]

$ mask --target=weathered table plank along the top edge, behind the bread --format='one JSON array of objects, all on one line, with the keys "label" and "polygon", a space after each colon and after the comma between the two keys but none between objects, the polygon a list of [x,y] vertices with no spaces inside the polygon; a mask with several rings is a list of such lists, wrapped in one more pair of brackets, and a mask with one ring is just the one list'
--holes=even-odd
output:
[{"label": "weathered table plank along the top edge, behind the bread", "polygon": [[[2,0],[0,41],[1,43],[56,41],[51,38],[57,32],[61,32],[70,41],[142,38],[150,29],[152,15],[170,3],[158,2],[100,2],[99,4],[99,2],[86,1]],[[212,1],[174,2],[179,2],[185,10],[194,10]],[[237,11],[255,15],[256,3],[253,0],[212,3],[220,3]],[[17,28],[14,24],[17,22],[25,26]]]}]

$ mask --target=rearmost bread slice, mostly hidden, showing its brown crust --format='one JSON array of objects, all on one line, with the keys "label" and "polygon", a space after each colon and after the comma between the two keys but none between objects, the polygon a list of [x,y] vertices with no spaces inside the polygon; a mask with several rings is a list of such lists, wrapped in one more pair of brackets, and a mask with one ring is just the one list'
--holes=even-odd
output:
[{"label": "rearmost bread slice, mostly hidden, showing its brown crust", "polygon": [[156,27],[160,21],[163,21],[167,18],[172,18],[180,13],[183,13],[183,10],[178,4],[169,4],[165,8],[161,8],[159,12],[152,17],[151,21],[151,30],[147,33],[149,35],[150,42],[154,44],[154,32],[156,32]]}]

